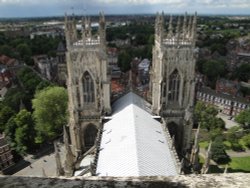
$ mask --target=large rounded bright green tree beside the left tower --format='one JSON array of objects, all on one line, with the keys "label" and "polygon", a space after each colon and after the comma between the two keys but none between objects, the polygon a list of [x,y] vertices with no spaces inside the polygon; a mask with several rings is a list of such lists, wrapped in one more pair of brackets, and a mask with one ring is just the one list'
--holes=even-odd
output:
[{"label": "large rounded bright green tree beside the left tower", "polygon": [[63,87],[47,87],[35,94],[34,109],[36,143],[51,141],[62,133],[67,123],[67,91]]}]

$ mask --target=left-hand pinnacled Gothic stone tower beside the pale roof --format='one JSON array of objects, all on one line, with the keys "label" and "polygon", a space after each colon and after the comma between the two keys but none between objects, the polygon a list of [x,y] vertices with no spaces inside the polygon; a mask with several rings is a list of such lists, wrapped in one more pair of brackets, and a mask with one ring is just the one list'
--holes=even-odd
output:
[{"label": "left-hand pinnacled Gothic stone tower beside the pale roof", "polygon": [[90,19],[82,20],[79,36],[74,20],[65,18],[69,96],[69,144],[75,158],[95,144],[101,116],[111,112],[110,76],[107,73],[105,18],[92,35]]}]

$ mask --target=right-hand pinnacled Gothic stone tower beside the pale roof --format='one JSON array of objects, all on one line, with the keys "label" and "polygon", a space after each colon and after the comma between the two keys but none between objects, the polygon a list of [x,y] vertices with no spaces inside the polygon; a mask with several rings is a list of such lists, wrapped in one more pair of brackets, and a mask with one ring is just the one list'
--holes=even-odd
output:
[{"label": "right-hand pinnacled Gothic stone tower beside the pale roof", "polygon": [[183,23],[178,18],[175,31],[172,17],[168,32],[164,14],[157,14],[151,71],[152,110],[167,122],[180,155],[190,148],[195,90],[196,14]]}]

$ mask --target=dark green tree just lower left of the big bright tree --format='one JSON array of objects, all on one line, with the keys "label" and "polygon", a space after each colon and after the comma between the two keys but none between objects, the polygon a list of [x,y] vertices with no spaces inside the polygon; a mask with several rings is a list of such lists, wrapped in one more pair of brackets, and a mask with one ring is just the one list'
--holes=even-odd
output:
[{"label": "dark green tree just lower left of the big bright tree", "polygon": [[17,129],[15,131],[16,151],[25,154],[32,151],[35,146],[35,129],[32,115],[27,110],[21,110],[14,119]]}]

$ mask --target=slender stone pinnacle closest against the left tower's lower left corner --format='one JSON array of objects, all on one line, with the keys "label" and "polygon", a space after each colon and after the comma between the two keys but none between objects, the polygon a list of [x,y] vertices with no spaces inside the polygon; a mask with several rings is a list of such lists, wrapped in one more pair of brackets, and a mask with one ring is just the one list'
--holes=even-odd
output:
[{"label": "slender stone pinnacle closest against the left tower's lower left corner", "polygon": [[66,150],[66,159],[65,159],[65,175],[72,176],[74,170],[74,155],[72,154],[71,148],[69,146],[69,136],[66,130],[66,127],[63,127],[64,130],[64,145]]}]

